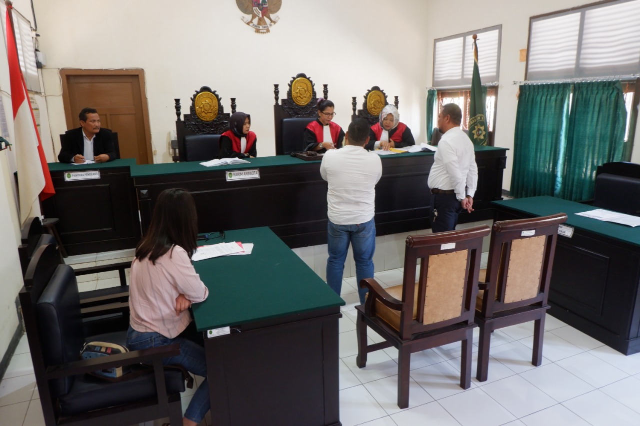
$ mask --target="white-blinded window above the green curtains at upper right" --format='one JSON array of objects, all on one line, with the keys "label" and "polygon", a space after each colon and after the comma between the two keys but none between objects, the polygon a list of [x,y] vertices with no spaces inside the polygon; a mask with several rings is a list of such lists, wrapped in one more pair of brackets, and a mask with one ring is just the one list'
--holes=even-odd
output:
[{"label": "white-blinded window above the green curtains at upper right", "polygon": [[640,0],[607,1],[532,17],[525,78],[639,74],[639,22]]}]

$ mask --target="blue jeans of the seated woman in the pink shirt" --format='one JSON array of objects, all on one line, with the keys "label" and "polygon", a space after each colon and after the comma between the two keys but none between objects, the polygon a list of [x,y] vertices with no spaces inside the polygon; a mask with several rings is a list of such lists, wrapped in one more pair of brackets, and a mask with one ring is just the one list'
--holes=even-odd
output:
[{"label": "blue jeans of the seated woman in the pink shirt", "polygon": [[200,423],[207,411],[211,408],[211,400],[209,400],[209,383],[207,382],[207,365],[205,363],[204,347],[197,343],[191,342],[186,338],[177,336],[175,338],[164,337],[160,333],[147,332],[141,333],[129,326],[127,331],[127,347],[130,351],[138,349],[146,349],[148,347],[170,345],[179,343],[180,355],[164,358],[163,364],[179,364],[190,373],[205,377],[204,381],[198,386],[184,416],[192,422]]}]

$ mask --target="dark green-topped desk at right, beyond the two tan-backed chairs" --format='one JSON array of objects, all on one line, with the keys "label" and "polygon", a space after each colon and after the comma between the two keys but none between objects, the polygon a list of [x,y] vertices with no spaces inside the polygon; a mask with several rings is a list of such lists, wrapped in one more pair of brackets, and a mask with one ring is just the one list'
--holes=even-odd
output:
[{"label": "dark green-topped desk at right, beyond the two tan-backed chairs", "polygon": [[576,216],[595,207],[553,197],[495,209],[497,220],[566,213],[573,236],[558,237],[549,313],[623,354],[640,352],[640,228]]}]

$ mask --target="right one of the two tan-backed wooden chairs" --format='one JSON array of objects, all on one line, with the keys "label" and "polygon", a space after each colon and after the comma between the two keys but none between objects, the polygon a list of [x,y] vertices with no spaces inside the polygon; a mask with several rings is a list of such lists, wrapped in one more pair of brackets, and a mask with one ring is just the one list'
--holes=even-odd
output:
[{"label": "right one of the two tan-backed wooden chairs", "polygon": [[[534,321],[531,363],[542,362],[542,343],[558,226],[566,214],[493,224],[489,260],[481,271],[476,300],[480,327],[476,378],[486,381],[493,330]],[[493,295],[493,297],[487,297]]]}]

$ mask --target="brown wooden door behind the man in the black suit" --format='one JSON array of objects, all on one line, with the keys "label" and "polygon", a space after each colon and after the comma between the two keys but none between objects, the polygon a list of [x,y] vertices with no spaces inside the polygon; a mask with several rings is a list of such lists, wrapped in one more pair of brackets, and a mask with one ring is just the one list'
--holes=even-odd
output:
[{"label": "brown wooden door behind the man in the black suit", "polygon": [[153,162],[143,70],[60,70],[67,129],[79,127],[78,114],[95,108],[102,127],[118,132],[120,158]]}]

